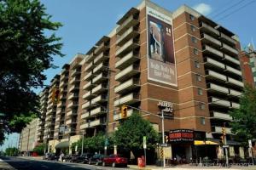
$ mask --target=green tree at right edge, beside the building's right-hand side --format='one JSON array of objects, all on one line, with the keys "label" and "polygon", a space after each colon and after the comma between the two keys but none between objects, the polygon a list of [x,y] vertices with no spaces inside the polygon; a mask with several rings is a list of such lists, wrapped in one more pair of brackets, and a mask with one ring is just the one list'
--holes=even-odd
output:
[{"label": "green tree at right edge, beside the building's right-hand side", "polygon": [[230,111],[232,132],[235,138],[247,145],[248,139],[256,139],[256,89],[244,88],[240,99],[240,108]]}]

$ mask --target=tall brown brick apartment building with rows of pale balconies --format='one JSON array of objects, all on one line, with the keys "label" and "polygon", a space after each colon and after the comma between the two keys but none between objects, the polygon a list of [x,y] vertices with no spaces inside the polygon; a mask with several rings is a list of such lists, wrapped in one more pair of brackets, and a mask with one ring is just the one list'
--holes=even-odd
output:
[{"label": "tall brown brick apartment building with rows of pale balconies", "polygon": [[[165,133],[172,156],[204,156],[195,140],[212,142],[207,155],[217,156],[221,127],[232,120],[228,111],[240,106],[239,53],[233,32],[194,9],[183,5],[171,12],[143,1],[86,54],[64,65],[42,92],[44,131],[40,129],[39,139],[55,151],[82,133],[113,133],[122,119],[119,108],[127,105],[129,116],[138,108],[160,133],[155,115],[168,110]],[[56,88],[61,92],[58,104],[51,100]],[[242,155],[229,124],[225,126],[230,155]]]}]

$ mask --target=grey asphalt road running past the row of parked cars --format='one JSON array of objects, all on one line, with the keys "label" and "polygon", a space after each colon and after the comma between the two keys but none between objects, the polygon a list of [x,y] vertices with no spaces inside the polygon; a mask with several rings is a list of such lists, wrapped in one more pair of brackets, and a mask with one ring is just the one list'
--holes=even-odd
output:
[{"label": "grey asphalt road running past the row of parked cars", "polygon": [[[19,157],[0,157],[17,170],[84,170],[84,169],[129,169],[129,167],[101,167],[79,163],[66,163],[60,161],[27,160]],[[0,164],[0,170],[1,168]]]}]

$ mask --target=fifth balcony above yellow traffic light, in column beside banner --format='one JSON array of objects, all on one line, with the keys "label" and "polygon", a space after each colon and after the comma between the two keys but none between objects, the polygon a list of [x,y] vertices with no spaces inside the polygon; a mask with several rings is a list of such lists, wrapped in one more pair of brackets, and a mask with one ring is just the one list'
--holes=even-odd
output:
[{"label": "fifth balcony above yellow traffic light, in column beside banner", "polygon": [[135,49],[138,47],[140,47],[139,40],[137,38],[133,38],[133,39],[129,40],[128,42],[125,42],[125,44],[123,46],[118,48],[115,52],[115,56],[119,57],[122,54],[130,52],[132,49]]}]

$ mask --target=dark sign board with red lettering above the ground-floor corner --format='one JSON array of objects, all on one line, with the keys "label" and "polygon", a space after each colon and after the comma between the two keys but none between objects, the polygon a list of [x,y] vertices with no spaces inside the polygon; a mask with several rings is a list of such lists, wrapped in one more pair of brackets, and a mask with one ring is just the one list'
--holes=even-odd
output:
[{"label": "dark sign board with red lettering above the ground-floor corner", "polygon": [[190,129],[171,130],[169,133],[169,140],[171,142],[177,141],[193,141],[194,131]]}]

